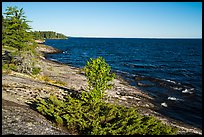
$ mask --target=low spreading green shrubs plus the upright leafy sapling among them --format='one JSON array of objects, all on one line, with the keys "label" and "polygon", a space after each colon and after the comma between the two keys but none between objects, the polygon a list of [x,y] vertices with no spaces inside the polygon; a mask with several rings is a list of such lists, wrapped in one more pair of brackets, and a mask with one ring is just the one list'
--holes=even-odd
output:
[{"label": "low spreading green shrubs plus the upright leafy sapling among them", "polygon": [[[58,125],[64,125],[72,134],[83,135],[168,135],[177,129],[154,117],[142,116],[135,108],[105,103],[102,99],[114,74],[101,57],[87,63],[85,74],[91,92],[79,96],[67,94],[60,100],[55,95],[37,99],[37,110]],[[100,91],[100,93],[98,92]]]}]

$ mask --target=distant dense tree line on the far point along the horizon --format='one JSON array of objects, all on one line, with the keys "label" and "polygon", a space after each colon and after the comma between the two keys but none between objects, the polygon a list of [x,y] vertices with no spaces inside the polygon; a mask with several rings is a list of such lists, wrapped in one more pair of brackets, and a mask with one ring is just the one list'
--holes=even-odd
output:
[{"label": "distant dense tree line on the far point along the horizon", "polygon": [[43,39],[66,39],[67,36],[56,33],[54,31],[33,31],[31,34],[34,36],[36,40],[43,40]]}]

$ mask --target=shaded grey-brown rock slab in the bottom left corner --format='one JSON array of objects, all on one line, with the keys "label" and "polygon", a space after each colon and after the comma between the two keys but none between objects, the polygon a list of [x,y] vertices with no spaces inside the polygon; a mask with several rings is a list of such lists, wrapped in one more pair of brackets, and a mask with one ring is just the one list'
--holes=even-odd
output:
[{"label": "shaded grey-brown rock slab in the bottom left corner", "polygon": [[2,135],[69,135],[28,106],[4,99],[2,104]]}]

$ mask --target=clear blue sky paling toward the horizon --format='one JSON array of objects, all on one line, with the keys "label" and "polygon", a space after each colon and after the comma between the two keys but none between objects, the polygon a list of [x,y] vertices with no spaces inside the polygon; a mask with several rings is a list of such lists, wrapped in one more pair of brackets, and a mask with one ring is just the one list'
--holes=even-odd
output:
[{"label": "clear blue sky paling toward the horizon", "polygon": [[202,38],[201,2],[2,2],[33,30],[72,37]]}]

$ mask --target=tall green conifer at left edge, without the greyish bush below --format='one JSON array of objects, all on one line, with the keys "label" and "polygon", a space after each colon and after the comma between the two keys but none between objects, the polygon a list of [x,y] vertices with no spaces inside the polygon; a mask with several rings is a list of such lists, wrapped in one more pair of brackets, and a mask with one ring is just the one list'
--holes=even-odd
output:
[{"label": "tall green conifer at left edge, without the greyish bush below", "polygon": [[10,46],[22,50],[26,46],[32,45],[33,38],[30,35],[31,29],[28,20],[24,16],[23,9],[8,7],[2,23],[2,45]]}]

